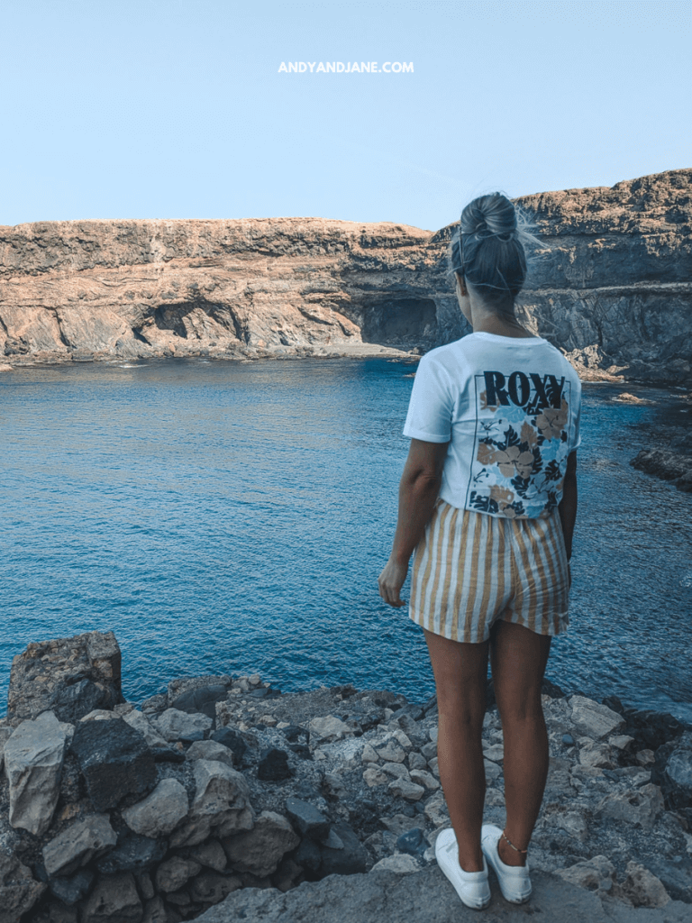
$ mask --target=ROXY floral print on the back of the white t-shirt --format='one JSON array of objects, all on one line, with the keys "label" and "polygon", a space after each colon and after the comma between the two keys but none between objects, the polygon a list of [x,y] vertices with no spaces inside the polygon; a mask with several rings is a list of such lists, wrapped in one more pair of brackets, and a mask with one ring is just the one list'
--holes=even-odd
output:
[{"label": "ROXY floral print on the back of the white t-shirt", "polygon": [[567,468],[570,383],[522,370],[475,376],[476,432],[468,509],[548,515]]}]

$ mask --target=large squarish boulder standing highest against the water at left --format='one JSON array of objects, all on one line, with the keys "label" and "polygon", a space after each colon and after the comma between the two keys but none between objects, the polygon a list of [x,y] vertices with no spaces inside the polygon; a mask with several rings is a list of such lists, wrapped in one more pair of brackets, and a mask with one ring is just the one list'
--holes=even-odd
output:
[{"label": "large squarish boulder standing highest against the water at left", "polygon": [[46,710],[76,724],[95,708],[123,700],[120,648],[113,631],[31,643],[12,661],[7,718],[16,726]]}]

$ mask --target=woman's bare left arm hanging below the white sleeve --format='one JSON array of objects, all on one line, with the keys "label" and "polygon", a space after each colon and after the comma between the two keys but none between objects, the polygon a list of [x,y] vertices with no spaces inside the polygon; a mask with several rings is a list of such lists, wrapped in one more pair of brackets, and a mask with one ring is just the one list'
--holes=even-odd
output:
[{"label": "woman's bare left arm hanging below the white sleeve", "polygon": [[448,442],[411,440],[399,485],[399,519],[394,543],[377,581],[379,594],[389,605],[406,605],[400,598],[400,590],[413,550],[423,538],[425,526],[433,515],[448,445]]}]

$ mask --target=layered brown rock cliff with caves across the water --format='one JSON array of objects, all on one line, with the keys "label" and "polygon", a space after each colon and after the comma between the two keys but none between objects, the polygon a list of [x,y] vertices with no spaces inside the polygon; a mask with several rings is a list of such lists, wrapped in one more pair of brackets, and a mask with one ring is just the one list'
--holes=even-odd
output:
[{"label": "layered brown rock cliff with caves across the water", "polygon": [[[692,381],[692,170],[516,199],[544,246],[519,311],[586,374]],[[0,354],[421,351],[468,330],[433,234],[319,218],[0,227]]]}]

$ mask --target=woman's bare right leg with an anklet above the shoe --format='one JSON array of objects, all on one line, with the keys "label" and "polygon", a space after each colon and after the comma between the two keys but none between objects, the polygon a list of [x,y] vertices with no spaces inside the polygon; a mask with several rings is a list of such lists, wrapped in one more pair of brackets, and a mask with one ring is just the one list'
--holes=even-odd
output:
[{"label": "woman's bare right leg with an anklet above the shoe", "polygon": [[[526,849],[543,801],[548,775],[548,735],[541,684],[550,653],[550,635],[498,619],[490,639],[495,699],[505,738],[507,838]],[[504,838],[498,844],[507,865],[526,865]]]}]

